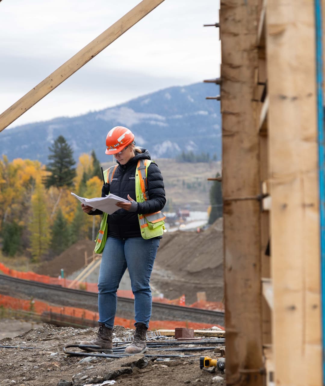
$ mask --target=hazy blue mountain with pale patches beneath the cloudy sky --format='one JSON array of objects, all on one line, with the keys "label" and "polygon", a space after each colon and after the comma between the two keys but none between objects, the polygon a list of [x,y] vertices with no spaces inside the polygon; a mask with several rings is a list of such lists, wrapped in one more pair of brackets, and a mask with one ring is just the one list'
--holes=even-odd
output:
[{"label": "hazy blue mountain with pale patches beneath the cloudy sky", "polygon": [[126,126],[135,144],[149,149],[152,158],[174,158],[182,151],[208,152],[221,159],[220,104],[206,100],[210,85],[195,83],[175,86],[144,95],[104,110],[78,117],[59,117],[4,130],[0,133],[0,154],[48,162],[48,147],[63,135],[77,161],[82,153],[95,150],[99,161],[108,161],[105,139],[114,126]]}]

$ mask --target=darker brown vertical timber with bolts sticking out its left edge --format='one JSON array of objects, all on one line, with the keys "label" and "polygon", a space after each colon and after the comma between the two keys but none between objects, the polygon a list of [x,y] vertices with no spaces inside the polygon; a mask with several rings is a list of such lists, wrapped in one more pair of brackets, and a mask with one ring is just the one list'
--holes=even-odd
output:
[{"label": "darker brown vertical timber with bolts sticking out its left edge", "polygon": [[[260,193],[257,104],[258,0],[221,1],[222,194],[227,342],[226,383],[264,384],[260,284]],[[249,371],[253,376],[246,376]],[[243,377],[241,374],[245,373]],[[250,374],[250,373],[249,373]],[[249,382],[247,381],[249,378]]]}]

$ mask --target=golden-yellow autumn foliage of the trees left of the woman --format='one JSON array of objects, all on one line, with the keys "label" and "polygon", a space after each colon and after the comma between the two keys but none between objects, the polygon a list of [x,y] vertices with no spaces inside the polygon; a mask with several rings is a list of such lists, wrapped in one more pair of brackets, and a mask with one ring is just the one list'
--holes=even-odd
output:
[{"label": "golden-yellow autumn foliage of the trees left of the woman", "polygon": [[[84,177],[91,174],[92,157],[89,154],[82,154],[79,157],[77,165],[77,176],[75,178],[75,187],[73,190],[62,188],[61,191],[54,186],[45,190],[43,180],[48,174],[46,166],[39,161],[31,161],[29,159],[14,159],[8,161],[6,156],[0,158],[0,230],[4,221],[15,221],[22,227],[33,227],[36,229],[35,216],[42,212],[46,218],[46,224],[43,224],[44,229],[53,224],[55,212],[61,208],[63,217],[71,224],[75,218],[77,211],[81,211],[80,202],[71,195],[71,191],[77,192]],[[86,191],[83,193],[85,197],[100,197],[101,187],[103,182],[97,176],[86,181]],[[54,212],[53,212],[54,210]],[[81,213],[83,215],[83,213]],[[97,234],[101,216],[82,216],[82,230],[85,235],[91,233],[94,227]],[[32,225],[33,224],[33,225]],[[95,235],[96,236],[96,235]],[[38,237],[34,237],[31,249],[33,250],[34,259],[37,260],[40,256],[40,251],[37,251],[37,243],[39,240],[44,242],[44,246],[48,247],[43,240],[44,234],[38,231]],[[50,242],[50,237],[46,236]]]}]

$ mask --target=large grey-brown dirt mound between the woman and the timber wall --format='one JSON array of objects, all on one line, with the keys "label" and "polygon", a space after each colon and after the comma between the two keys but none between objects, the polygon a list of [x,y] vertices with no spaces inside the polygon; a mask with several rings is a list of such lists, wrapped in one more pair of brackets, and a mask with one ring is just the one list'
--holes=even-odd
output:
[{"label": "large grey-brown dirt mound between the woman and the timber wall", "polygon": [[164,234],[151,283],[166,298],[174,299],[184,294],[186,304],[197,301],[197,292],[203,291],[208,301],[222,301],[222,218],[200,233]]}]

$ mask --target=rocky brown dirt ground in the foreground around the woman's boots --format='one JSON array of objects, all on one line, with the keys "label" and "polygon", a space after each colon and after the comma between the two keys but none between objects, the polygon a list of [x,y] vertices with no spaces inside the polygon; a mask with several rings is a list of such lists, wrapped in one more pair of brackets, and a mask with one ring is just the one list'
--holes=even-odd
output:
[{"label": "rocky brown dirt ground in the foreground around the woman's boots", "polygon": [[[159,351],[149,349],[146,353],[155,356],[157,354],[190,355],[170,360],[145,357],[143,354],[120,359],[93,357],[89,354],[83,357],[69,357],[63,352],[62,346],[79,344],[81,340],[91,340],[96,336],[97,330],[97,328],[80,330],[72,327],[43,325],[24,332],[14,339],[0,340],[0,346],[2,346],[0,347],[0,386],[9,384],[24,386],[90,386],[97,384],[99,386],[106,380],[115,380],[116,384],[128,386],[184,385],[187,383],[212,385],[216,384],[212,381],[213,377],[225,377],[225,374],[217,369],[214,374],[200,369],[200,356],[216,357],[213,349],[215,343],[205,344],[204,350],[195,352],[164,351],[162,347]],[[114,331],[115,340],[130,342],[133,330],[115,326]],[[161,339],[169,340],[168,338]],[[125,345],[127,344],[121,344],[124,347]],[[3,346],[11,346],[11,348]],[[78,348],[67,348],[67,350],[82,352]],[[221,381],[217,384],[225,385],[226,383]]]}]

